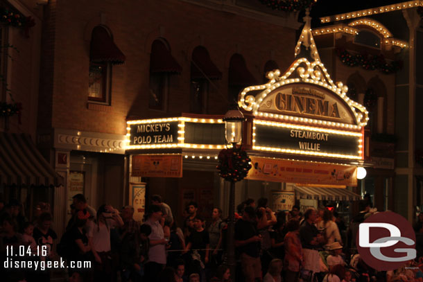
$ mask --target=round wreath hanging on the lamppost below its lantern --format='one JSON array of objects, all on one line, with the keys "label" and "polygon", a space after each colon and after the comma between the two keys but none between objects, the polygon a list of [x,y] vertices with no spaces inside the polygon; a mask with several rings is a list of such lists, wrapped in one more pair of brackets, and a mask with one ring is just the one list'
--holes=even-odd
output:
[{"label": "round wreath hanging on the lamppost below its lantern", "polygon": [[238,182],[247,176],[251,159],[242,148],[223,149],[219,152],[219,175],[230,182]]}]

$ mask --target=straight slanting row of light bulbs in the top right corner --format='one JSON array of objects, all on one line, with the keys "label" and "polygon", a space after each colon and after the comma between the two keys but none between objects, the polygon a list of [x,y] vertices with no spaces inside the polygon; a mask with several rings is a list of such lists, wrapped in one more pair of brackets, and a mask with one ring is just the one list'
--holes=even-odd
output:
[{"label": "straight slanting row of light bulbs in the top right corner", "polygon": [[418,6],[423,6],[423,1],[408,1],[408,2],[404,2],[404,3],[397,3],[397,4],[393,4],[393,5],[388,5],[388,6],[381,6],[379,8],[372,8],[372,9],[367,9],[367,10],[359,10],[356,12],[347,12],[345,14],[340,14],[340,15],[334,15],[334,16],[330,16],[330,17],[321,17],[320,18],[320,22],[322,23],[328,23],[330,21],[340,21],[343,19],[354,19],[356,17],[365,17],[368,15],[376,15],[376,14],[380,14],[383,12],[392,12],[394,10],[403,10],[403,9],[408,9],[408,8],[413,8],[413,7],[418,7]]}]

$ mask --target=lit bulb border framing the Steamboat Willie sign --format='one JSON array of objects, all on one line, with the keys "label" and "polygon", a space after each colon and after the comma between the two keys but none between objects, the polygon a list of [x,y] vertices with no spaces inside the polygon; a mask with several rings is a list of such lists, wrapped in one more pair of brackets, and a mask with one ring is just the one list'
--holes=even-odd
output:
[{"label": "lit bulb border framing the Steamboat Willie sign", "polygon": [[[306,150],[293,150],[293,149],[286,149],[286,148],[275,148],[275,147],[263,147],[263,146],[256,146],[255,145],[255,130],[256,124],[259,125],[269,125],[274,127],[286,127],[286,128],[293,128],[297,130],[310,130],[310,131],[320,131],[320,132],[327,132],[331,134],[338,134],[338,135],[346,135],[346,136],[356,136],[360,137],[359,139],[359,146],[357,150],[357,155],[343,155],[343,154],[331,154],[326,152],[314,152],[314,151],[306,151]],[[331,130],[329,128],[322,128],[322,127],[311,127],[311,126],[304,126],[304,125],[295,125],[292,123],[277,123],[275,121],[261,121],[261,120],[254,120],[252,126],[252,149],[253,150],[262,150],[262,151],[270,151],[270,152],[282,152],[287,154],[297,154],[297,155],[309,155],[309,156],[316,156],[316,157],[335,157],[335,158],[342,158],[342,159],[363,159],[363,139],[364,139],[364,132],[353,132],[353,131],[343,131],[343,130]]]}]

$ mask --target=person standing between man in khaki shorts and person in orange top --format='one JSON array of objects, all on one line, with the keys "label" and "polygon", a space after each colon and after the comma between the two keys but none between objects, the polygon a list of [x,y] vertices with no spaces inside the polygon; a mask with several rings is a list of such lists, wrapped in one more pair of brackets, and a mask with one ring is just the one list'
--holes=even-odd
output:
[{"label": "person standing between man in khaki shorts and person in orange top", "polygon": [[270,239],[270,230],[273,231],[272,225],[277,223],[275,213],[267,206],[267,198],[260,198],[257,200],[257,229],[261,235],[261,270],[267,271],[272,256],[269,253],[272,247]]}]

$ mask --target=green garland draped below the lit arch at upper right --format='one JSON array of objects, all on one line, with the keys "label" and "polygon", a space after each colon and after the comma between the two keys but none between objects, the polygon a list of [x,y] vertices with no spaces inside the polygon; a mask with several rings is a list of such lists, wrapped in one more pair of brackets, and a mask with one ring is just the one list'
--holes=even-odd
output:
[{"label": "green garland draped below the lit arch at upper right", "polygon": [[386,62],[383,55],[353,55],[345,49],[337,49],[339,60],[348,67],[361,66],[363,69],[374,71],[378,69],[382,73],[390,74],[399,71],[402,68],[401,61]]}]

